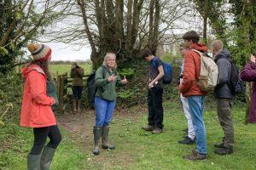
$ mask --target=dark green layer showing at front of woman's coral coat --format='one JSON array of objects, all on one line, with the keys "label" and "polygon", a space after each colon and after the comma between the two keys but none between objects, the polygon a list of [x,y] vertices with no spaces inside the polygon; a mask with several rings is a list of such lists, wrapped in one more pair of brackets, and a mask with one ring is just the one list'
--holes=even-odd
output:
[{"label": "dark green layer showing at front of woman's coral coat", "polygon": [[46,94],[55,99],[55,105],[51,106],[52,111],[57,111],[59,107],[59,99],[56,94],[56,88],[54,82],[50,82],[49,79],[46,81]]}]

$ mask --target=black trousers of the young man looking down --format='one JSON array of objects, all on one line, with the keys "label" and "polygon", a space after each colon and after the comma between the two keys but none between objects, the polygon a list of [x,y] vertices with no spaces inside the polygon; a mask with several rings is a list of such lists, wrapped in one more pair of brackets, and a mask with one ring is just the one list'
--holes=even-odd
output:
[{"label": "black trousers of the young man looking down", "polygon": [[164,110],[162,105],[163,88],[148,90],[148,125],[163,128]]}]

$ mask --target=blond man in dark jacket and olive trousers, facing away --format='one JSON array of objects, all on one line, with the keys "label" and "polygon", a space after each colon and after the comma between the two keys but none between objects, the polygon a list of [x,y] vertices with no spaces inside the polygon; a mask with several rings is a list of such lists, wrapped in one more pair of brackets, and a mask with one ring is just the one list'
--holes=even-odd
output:
[{"label": "blond man in dark jacket and olive trousers, facing away", "polygon": [[224,138],[221,144],[214,144],[217,148],[214,152],[218,155],[233,153],[234,128],[232,122],[231,101],[233,95],[229,88],[231,75],[230,52],[223,48],[220,40],[212,41],[212,54],[218,65],[218,85],[214,89],[214,96],[217,99],[218,121],[224,130]]}]

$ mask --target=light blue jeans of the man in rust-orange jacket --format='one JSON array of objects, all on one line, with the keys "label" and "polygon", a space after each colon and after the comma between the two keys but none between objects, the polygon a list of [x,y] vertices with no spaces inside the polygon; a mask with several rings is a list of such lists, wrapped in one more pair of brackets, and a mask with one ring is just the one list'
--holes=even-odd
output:
[{"label": "light blue jeans of the man in rust-orange jacket", "polygon": [[201,154],[207,154],[207,134],[203,120],[203,105],[205,102],[205,96],[189,96],[188,101],[193,126],[195,128],[196,151]]}]

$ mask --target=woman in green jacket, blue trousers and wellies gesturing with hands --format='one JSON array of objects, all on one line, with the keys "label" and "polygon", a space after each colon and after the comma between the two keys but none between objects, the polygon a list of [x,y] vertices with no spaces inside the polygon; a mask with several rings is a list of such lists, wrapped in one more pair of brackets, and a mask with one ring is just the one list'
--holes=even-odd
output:
[{"label": "woman in green jacket, blue trousers and wellies gesturing with hands", "polygon": [[114,150],[115,146],[108,144],[109,122],[113,117],[113,111],[116,104],[116,84],[126,84],[127,80],[120,79],[116,70],[116,56],[113,53],[107,53],[101,67],[96,71],[95,85],[95,110],[96,125],[93,127],[94,134],[94,155],[99,155],[99,140],[102,138],[102,149]]}]

